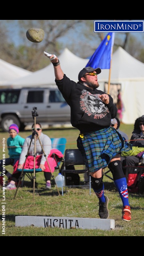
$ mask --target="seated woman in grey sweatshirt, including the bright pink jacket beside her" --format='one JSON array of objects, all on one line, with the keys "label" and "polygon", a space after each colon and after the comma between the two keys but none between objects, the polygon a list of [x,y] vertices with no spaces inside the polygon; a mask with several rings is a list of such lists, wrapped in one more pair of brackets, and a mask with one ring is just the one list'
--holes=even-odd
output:
[{"label": "seated woman in grey sweatshirt, including the bright pink jacket beside her", "polygon": [[[46,180],[46,189],[51,188],[51,172],[54,172],[54,168],[57,166],[56,161],[52,157],[52,153],[56,153],[56,155],[59,158],[63,157],[63,154],[57,150],[52,149],[52,142],[51,139],[46,135],[42,133],[42,127],[40,123],[36,123],[36,127],[34,128],[34,124],[32,125],[32,131],[34,132],[34,129],[38,133],[38,136],[36,134],[36,145],[34,145],[34,137],[32,138],[32,135],[28,136],[25,141],[22,148],[22,153],[20,154],[19,161],[16,162],[14,165],[14,172],[12,174],[12,178],[10,183],[6,186],[6,189],[12,190],[16,189],[16,182],[20,178],[21,172],[18,172],[17,169],[22,169],[24,166],[24,169],[33,169],[34,168],[34,146],[36,146],[36,158],[35,158],[35,168],[42,169],[42,172],[44,172],[44,177]],[[39,138],[39,140],[38,140]],[[40,144],[41,143],[41,144]],[[42,145],[42,146],[41,146]],[[43,150],[42,150],[43,148]],[[46,156],[48,163],[46,161]],[[28,154],[28,156],[27,156]],[[26,157],[27,156],[27,157]],[[49,168],[49,166],[50,168]],[[51,169],[51,171],[50,171]]]}]

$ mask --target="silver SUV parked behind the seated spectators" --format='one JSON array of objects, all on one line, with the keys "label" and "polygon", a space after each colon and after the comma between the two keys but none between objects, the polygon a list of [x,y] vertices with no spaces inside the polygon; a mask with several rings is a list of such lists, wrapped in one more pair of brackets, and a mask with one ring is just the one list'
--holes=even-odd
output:
[{"label": "silver SUV parked behind the seated spectators", "polygon": [[0,90],[0,127],[8,131],[15,123],[20,130],[34,123],[33,108],[37,108],[36,121],[41,124],[69,124],[70,106],[57,86],[46,88],[20,88]]}]

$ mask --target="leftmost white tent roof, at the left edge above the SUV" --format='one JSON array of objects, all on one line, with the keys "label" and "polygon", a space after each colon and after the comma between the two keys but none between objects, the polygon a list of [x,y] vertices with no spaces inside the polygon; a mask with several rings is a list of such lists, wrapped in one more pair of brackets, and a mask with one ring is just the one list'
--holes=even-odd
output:
[{"label": "leftmost white tent roof, at the left edge above the SUV", "polygon": [[32,72],[25,70],[24,68],[14,66],[0,59],[0,84],[3,84],[4,82],[8,82],[9,80],[15,78],[27,76],[31,73]]}]

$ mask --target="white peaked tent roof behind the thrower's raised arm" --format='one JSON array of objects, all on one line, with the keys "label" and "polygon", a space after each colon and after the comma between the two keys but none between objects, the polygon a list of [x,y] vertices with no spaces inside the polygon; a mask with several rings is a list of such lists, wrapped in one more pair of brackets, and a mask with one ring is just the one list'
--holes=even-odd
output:
[{"label": "white peaked tent roof behind the thrower's raised arm", "polygon": [[[62,65],[64,73],[71,80],[76,82],[78,81],[78,70],[84,68],[89,60],[76,56],[67,48],[64,49],[58,58],[60,59],[60,64]],[[26,77],[8,81],[7,83],[4,83],[4,85],[15,88],[18,86],[47,86],[48,84],[55,84],[54,68],[49,59],[48,64],[50,65],[41,70],[33,72]]]}]

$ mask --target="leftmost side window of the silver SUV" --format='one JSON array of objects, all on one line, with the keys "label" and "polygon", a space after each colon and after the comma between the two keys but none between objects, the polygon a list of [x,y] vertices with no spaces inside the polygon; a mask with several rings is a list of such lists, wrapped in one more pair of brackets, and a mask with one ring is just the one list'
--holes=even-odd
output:
[{"label": "leftmost side window of the silver SUV", "polygon": [[1,91],[0,104],[18,103],[19,95],[20,95],[20,90]]}]

